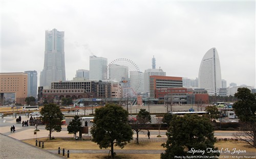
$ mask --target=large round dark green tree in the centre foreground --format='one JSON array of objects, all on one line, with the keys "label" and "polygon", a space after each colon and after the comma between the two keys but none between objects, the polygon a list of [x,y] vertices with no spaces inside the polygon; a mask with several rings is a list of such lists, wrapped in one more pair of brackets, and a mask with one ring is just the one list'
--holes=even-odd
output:
[{"label": "large round dark green tree in the centre foreground", "polygon": [[106,104],[95,109],[94,125],[91,128],[92,141],[99,148],[111,147],[114,157],[114,146],[123,148],[133,139],[133,131],[128,123],[128,112],[116,104]]}]

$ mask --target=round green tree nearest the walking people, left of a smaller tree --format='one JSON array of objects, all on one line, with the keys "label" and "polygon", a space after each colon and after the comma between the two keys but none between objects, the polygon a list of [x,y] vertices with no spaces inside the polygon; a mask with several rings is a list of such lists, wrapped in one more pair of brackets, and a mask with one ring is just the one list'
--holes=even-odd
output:
[{"label": "round green tree nearest the walking people, left of a smaller tree", "polygon": [[42,115],[42,121],[46,124],[46,129],[49,130],[49,137],[51,140],[54,131],[61,131],[63,114],[61,113],[60,108],[54,103],[45,104],[41,109],[40,114]]}]

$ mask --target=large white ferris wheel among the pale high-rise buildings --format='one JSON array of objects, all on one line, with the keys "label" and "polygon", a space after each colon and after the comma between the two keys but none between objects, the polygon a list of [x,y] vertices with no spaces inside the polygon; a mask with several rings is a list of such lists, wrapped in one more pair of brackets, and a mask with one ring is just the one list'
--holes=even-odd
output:
[{"label": "large white ferris wheel among the pale high-rise buildings", "polygon": [[142,91],[142,76],[139,67],[129,59],[119,58],[109,64],[109,79],[122,86],[123,97],[136,97]]}]

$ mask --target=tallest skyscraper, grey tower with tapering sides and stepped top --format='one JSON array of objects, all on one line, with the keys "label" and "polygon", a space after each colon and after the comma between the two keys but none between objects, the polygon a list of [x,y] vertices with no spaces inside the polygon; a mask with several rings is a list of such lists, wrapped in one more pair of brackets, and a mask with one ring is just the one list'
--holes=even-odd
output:
[{"label": "tallest skyscraper, grey tower with tapering sides and stepped top", "polygon": [[64,32],[56,29],[46,31],[45,40],[45,63],[40,86],[51,86],[51,82],[66,81]]}]

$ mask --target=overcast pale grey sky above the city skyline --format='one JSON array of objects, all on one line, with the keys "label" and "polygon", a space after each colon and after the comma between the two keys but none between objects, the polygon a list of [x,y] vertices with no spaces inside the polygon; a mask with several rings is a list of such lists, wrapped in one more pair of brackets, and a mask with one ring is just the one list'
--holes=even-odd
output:
[{"label": "overcast pale grey sky above the city skyline", "polygon": [[[65,32],[66,78],[89,57],[196,78],[216,47],[222,79],[255,88],[255,1],[1,1],[1,72],[44,67],[45,31]],[[39,83],[38,83],[39,86]]]}]

